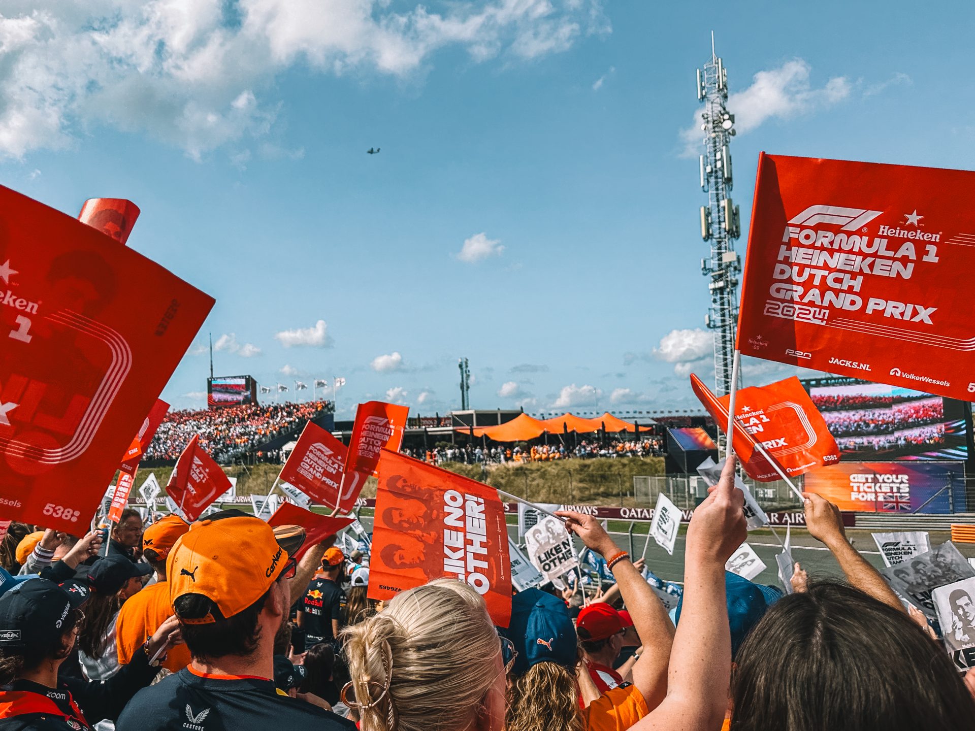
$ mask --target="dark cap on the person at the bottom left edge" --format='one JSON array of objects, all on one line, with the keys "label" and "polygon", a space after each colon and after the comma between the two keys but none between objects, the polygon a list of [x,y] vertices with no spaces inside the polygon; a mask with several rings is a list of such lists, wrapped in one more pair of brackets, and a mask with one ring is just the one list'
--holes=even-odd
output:
[{"label": "dark cap on the person at the bottom left edge", "polygon": [[84,584],[58,586],[47,579],[30,579],[0,596],[0,647],[30,647],[50,643],[63,634],[72,609],[88,599]]}]

